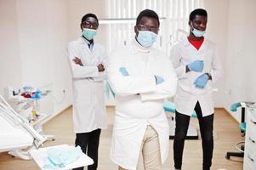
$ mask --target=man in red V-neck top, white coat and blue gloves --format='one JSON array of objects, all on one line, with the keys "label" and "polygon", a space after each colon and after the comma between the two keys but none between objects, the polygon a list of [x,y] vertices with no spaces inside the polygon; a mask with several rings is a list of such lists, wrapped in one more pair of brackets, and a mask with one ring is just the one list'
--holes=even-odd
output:
[{"label": "man in red V-neck top, white coat and blue gloves", "polygon": [[178,76],[175,95],[176,128],[174,167],[181,169],[185,136],[195,110],[202,136],[203,170],[209,170],[213,157],[213,82],[223,75],[216,45],[203,37],[208,14],[201,8],[190,14],[189,37],[176,44],[171,53]]}]

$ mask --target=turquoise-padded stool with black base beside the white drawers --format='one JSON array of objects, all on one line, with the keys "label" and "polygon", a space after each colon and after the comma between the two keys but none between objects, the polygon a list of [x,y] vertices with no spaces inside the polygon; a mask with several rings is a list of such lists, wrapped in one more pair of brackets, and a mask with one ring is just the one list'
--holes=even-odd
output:
[{"label": "turquoise-padded stool with black base beside the white drawers", "polygon": [[[242,137],[245,136],[246,133],[246,122],[245,122],[245,108],[246,108],[246,102],[237,102],[230,106],[230,111],[235,112],[237,111],[237,108],[242,107],[241,110],[241,123],[239,125],[239,128],[241,130]],[[230,159],[230,156],[236,156],[236,157],[243,157],[244,156],[244,141],[236,143],[236,149],[239,150],[239,152],[231,152],[228,151],[226,153],[225,158],[227,160]]]}]

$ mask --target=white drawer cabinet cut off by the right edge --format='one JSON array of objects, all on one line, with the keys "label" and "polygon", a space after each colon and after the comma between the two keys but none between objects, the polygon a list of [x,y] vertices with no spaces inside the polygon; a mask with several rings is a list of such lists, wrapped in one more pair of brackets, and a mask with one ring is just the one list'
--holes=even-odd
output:
[{"label": "white drawer cabinet cut off by the right edge", "polygon": [[243,169],[256,169],[256,108],[247,109],[247,127]]}]

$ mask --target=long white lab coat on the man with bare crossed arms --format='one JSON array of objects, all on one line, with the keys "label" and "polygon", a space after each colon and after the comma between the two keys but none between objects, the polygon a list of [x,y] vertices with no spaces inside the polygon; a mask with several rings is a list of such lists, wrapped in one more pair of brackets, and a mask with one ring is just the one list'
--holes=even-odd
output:
[{"label": "long white lab coat on the man with bare crossed arms", "polygon": [[[82,65],[72,59],[78,57]],[[107,66],[105,48],[94,42],[92,51],[83,37],[69,42],[68,59],[73,80],[73,124],[75,133],[88,133],[107,126],[105,114],[104,80],[106,71],[99,72],[98,65]]]}]

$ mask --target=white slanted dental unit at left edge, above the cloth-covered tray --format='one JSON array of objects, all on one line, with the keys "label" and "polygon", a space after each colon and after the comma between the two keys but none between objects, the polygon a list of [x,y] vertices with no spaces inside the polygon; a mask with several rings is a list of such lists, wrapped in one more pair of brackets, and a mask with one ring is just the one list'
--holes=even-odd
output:
[{"label": "white slanted dental unit at left edge, above the cloth-covered tray", "polygon": [[0,95],[0,152],[9,151],[12,156],[29,160],[30,150],[22,149],[38,149],[46,140]]}]

